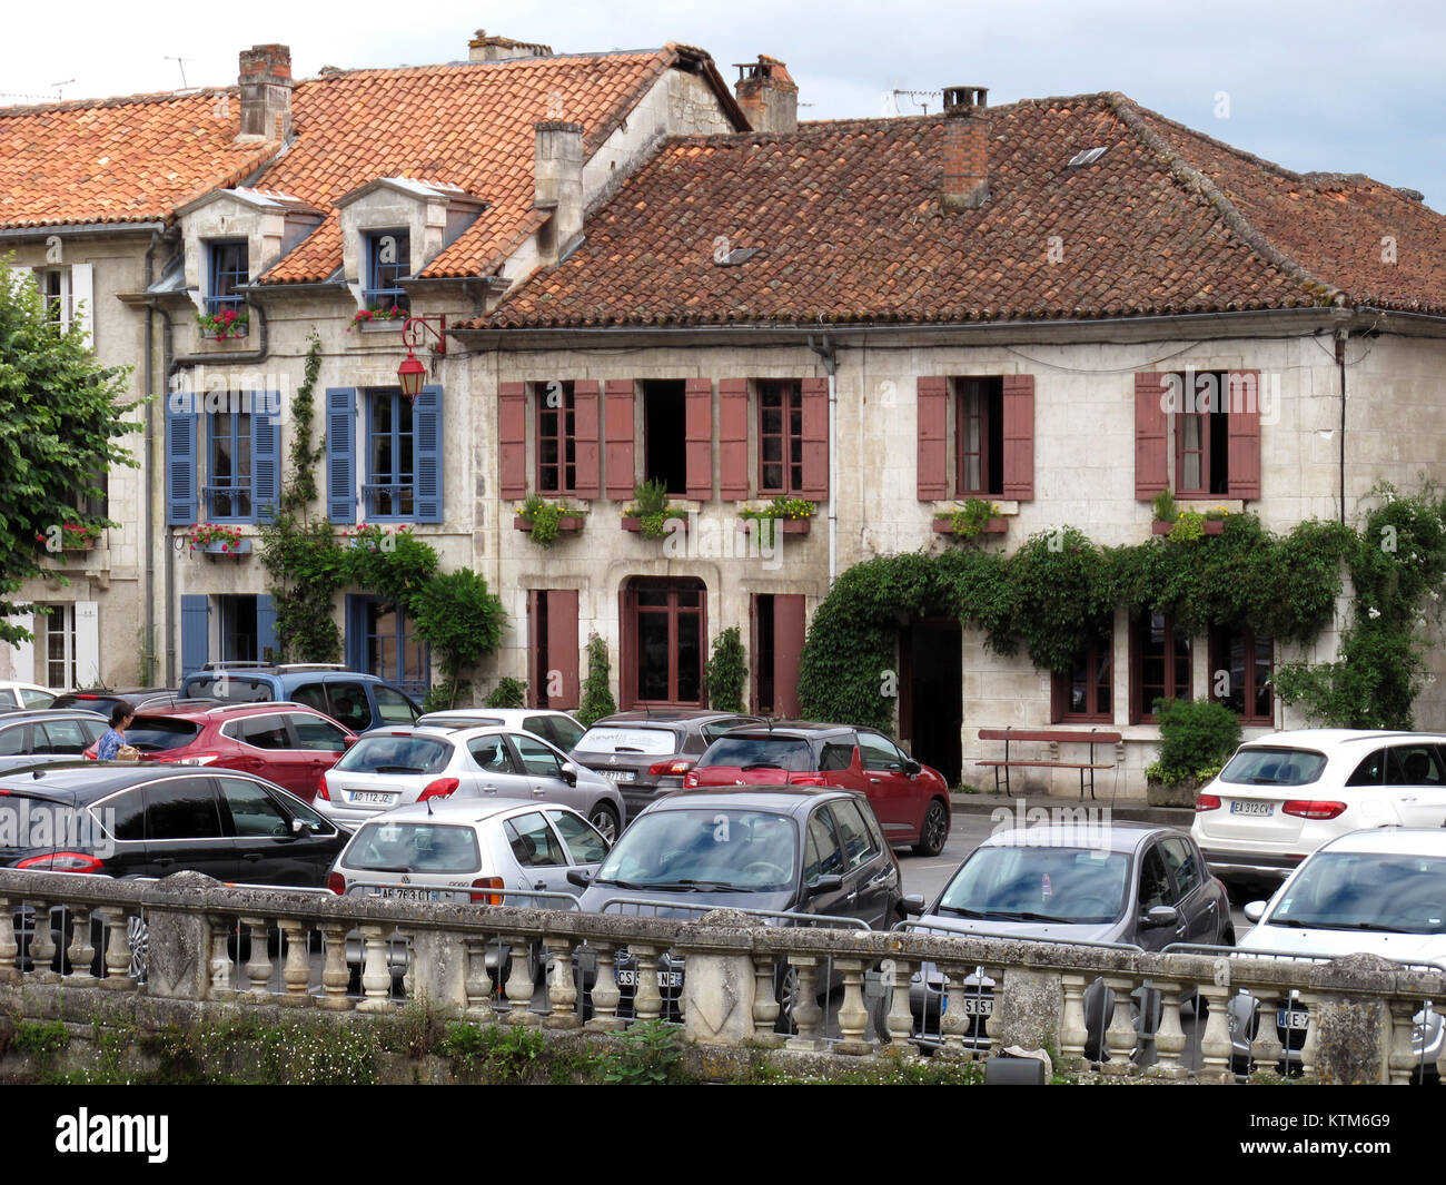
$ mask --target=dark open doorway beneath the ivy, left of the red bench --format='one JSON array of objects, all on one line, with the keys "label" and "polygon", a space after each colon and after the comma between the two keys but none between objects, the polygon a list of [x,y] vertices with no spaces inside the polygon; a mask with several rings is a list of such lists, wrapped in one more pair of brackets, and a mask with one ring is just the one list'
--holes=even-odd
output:
[{"label": "dark open doorway beneath the ivy, left of the red bench", "polygon": [[899,735],[950,786],[963,773],[963,631],[957,621],[915,621],[899,631]]}]

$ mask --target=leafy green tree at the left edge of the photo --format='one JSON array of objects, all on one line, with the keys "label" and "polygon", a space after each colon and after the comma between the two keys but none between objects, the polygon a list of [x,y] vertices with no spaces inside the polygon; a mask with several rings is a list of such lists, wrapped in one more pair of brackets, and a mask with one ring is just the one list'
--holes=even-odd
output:
[{"label": "leafy green tree at the left edge of the photo", "polygon": [[12,596],[42,572],[46,545],[65,524],[120,524],[75,509],[100,499],[97,475],[137,462],[119,441],[140,424],[126,417],[129,370],[101,366],[78,318],[55,324],[39,289],[0,259],[0,641],[30,637],[10,618],[27,612]]}]

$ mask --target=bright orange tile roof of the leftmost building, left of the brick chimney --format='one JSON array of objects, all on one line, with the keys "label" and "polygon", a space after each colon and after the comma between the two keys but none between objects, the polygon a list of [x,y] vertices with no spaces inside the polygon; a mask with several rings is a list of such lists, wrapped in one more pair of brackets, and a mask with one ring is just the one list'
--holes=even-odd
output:
[{"label": "bright orange tile roof of the leftmost building, left of the brick chimney", "polygon": [[0,226],[163,220],[276,153],[239,122],[234,88],[3,107]]}]

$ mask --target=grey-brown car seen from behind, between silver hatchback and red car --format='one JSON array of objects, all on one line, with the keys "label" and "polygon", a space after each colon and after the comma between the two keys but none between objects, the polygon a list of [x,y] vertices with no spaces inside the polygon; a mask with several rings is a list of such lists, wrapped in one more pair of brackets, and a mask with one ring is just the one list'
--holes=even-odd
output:
[{"label": "grey-brown car seen from behind, between silver hatchback and red car", "polygon": [[630,822],[659,794],[681,790],[684,774],[719,736],[748,723],[762,721],[691,708],[619,712],[587,729],[571,757],[617,786]]}]

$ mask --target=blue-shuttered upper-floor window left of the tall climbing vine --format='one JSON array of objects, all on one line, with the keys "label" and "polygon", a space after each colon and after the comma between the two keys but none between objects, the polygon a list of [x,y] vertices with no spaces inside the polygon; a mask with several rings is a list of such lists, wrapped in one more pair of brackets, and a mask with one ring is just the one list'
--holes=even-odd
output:
[{"label": "blue-shuttered upper-floor window left of the tall climbing vine", "polygon": [[281,496],[276,391],[166,398],[166,522],[270,522]]}]

